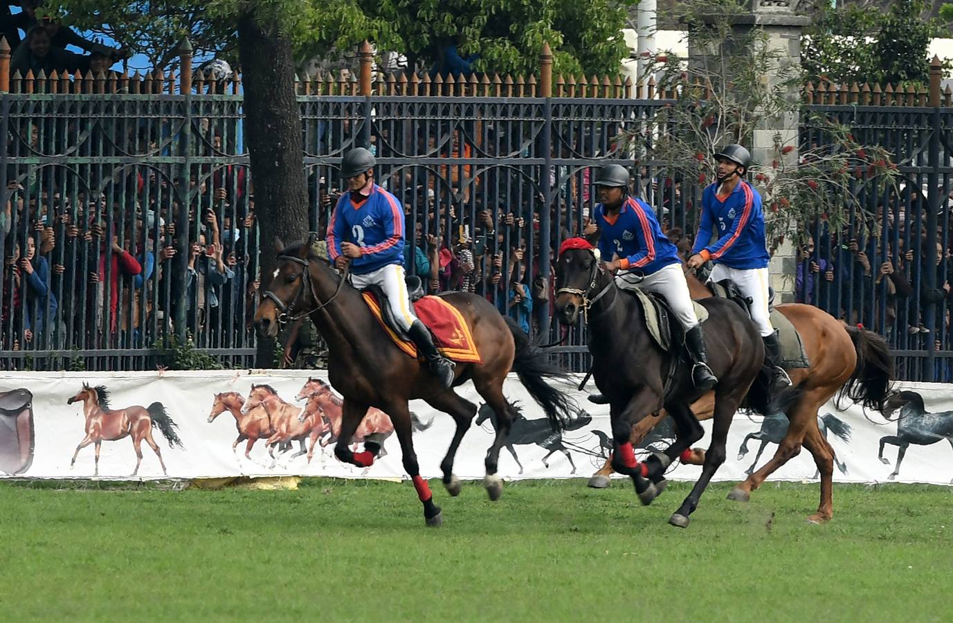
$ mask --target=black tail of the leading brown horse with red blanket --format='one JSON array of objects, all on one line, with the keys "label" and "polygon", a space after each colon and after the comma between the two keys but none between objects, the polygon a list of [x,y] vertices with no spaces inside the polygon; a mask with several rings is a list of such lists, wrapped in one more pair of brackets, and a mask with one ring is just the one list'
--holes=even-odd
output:
[{"label": "black tail of the leading brown horse with red blanket", "polygon": [[517,372],[519,381],[523,384],[533,399],[537,401],[554,431],[564,428],[572,414],[578,409],[569,394],[558,391],[546,382],[546,378],[570,382],[568,372],[560,372],[556,366],[548,361],[548,355],[536,344],[530,342],[529,336],[509,316],[504,316],[513,341],[516,345],[516,357],[513,360],[513,372]]}]

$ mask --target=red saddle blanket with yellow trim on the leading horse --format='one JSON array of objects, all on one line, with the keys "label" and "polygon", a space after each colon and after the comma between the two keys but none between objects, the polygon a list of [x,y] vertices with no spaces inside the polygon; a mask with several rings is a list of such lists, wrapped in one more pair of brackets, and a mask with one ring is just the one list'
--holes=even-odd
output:
[{"label": "red saddle blanket with yellow trim on the leading horse", "polygon": [[[397,348],[416,358],[416,344],[410,340],[401,339],[384,322],[375,295],[369,291],[364,291],[362,294],[364,295],[364,302],[371,308],[380,326],[394,340]],[[441,352],[443,356],[454,361],[483,363],[479,352],[476,351],[476,342],[470,332],[470,327],[456,307],[439,296],[424,296],[414,302],[414,312],[420,322],[434,333],[436,350]]]}]

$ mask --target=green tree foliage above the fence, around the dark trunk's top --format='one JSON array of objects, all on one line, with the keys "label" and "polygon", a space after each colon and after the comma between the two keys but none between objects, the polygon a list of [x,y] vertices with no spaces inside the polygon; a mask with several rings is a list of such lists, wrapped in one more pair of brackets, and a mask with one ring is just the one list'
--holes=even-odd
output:
[{"label": "green tree foliage above the fence, around the dark trunk's top", "polygon": [[477,54],[479,70],[537,70],[543,43],[555,70],[613,73],[628,54],[621,30],[637,0],[62,0],[57,12],[79,29],[105,34],[167,69],[189,36],[196,57],[234,60],[237,16],[253,10],[288,36],[298,60],[348,50],[368,39],[378,50],[438,63],[448,45]]}]

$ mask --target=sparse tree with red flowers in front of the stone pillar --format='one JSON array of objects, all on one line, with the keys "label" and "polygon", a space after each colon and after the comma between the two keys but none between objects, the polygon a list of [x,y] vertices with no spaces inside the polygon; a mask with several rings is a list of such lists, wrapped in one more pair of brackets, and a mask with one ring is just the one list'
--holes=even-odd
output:
[{"label": "sparse tree with red flowers in front of the stone pillar", "polygon": [[630,149],[670,175],[704,185],[714,179],[711,156],[721,147],[740,143],[750,149],[756,129],[800,112],[811,140],[798,145],[797,133],[779,131],[773,150],[760,160],[756,153],[749,171],[763,199],[769,239],[800,244],[818,218],[832,230],[855,222],[863,233],[876,234],[875,215],[859,197],[871,187],[881,192],[895,184],[891,154],[859,144],[849,128],[803,107],[801,68],[770,45],[763,29],[737,28],[736,10],[708,0],[680,5],[693,57],[688,63],[672,53],[650,59],[646,72],[674,99],[652,123],[627,134]]}]

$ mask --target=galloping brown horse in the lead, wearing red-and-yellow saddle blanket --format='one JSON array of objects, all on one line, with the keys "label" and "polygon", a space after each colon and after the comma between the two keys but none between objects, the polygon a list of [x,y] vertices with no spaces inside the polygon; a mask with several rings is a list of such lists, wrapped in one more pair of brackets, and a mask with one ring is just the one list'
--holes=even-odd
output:
[{"label": "galloping brown horse in the lead, wearing red-and-yellow saddle blanket", "polygon": [[[374,462],[379,446],[365,444],[364,452],[352,452],[349,442],[370,407],[390,415],[403,453],[404,469],[411,475],[423,504],[427,525],[442,523],[427,481],[420,477],[411,436],[412,420],[408,402],[420,398],[437,411],[447,412],[456,422],[450,448],[440,464],[443,484],[451,495],[460,492],[454,475],[456,449],[476,415],[476,405],[454,389],[444,390],[421,360],[401,351],[368,309],[360,292],[347,283],[347,274],[338,275],[331,265],[311,251],[311,242],[287,249],[278,241],[278,257],[270,290],[254,313],[254,323],[264,335],[274,335],[278,324],[289,318],[310,315],[314,326],[328,343],[328,375],[344,397],[340,433],[335,455],[341,461],[366,467]],[[552,367],[547,355],[530,344],[529,338],[512,319],[504,318],[487,299],[468,292],[440,294],[456,308],[473,336],[480,363],[457,363],[454,386],[471,380],[476,391],[497,412],[500,426],[484,462],[484,484],[490,498],[502,493],[497,475],[499,451],[510,431],[513,407],[503,396],[503,381],[511,370],[543,408],[556,428],[574,412],[571,399],[546,382],[546,377],[567,375]]]}]

